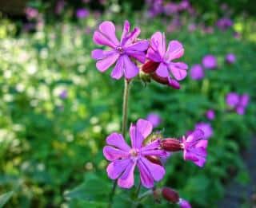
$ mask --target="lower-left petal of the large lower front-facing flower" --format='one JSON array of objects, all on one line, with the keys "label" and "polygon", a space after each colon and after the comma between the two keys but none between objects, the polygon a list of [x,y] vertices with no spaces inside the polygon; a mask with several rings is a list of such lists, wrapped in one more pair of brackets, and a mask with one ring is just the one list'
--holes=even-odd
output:
[{"label": "lower-left petal of the large lower front-facing flower", "polygon": [[106,167],[107,175],[110,179],[118,179],[122,175],[123,171],[126,170],[126,167],[130,164],[130,159],[118,159],[110,163]]}]

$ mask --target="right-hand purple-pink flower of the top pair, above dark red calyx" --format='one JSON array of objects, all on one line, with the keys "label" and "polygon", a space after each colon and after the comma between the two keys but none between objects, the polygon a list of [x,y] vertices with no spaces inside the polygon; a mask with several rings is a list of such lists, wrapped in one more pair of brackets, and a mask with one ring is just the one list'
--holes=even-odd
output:
[{"label": "right-hand purple-pink flower of the top pair, above dark red calyx", "polygon": [[164,33],[156,32],[150,39],[150,48],[146,57],[150,61],[159,63],[155,74],[168,80],[170,86],[179,88],[179,80],[186,77],[188,66],[183,62],[173,62],[183,56],[184,49],[179,41],[170,41],[166,50],[166,37]]}]

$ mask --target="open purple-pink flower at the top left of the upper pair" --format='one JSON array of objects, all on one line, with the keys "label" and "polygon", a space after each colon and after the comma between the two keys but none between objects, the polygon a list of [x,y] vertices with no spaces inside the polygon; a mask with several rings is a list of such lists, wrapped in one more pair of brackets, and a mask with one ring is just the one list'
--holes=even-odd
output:
[{"label": "open purple-pink flower at the top left of the upper pair", "polygon": [[105,72],[115,62],[117,64],[111,73],[114,79],[120,79],[123,75],[126,79],[131,79],[138,75],[138,67],[130,61],[130,57],[144,63],[146,60],[145,51],[149,46],[149,41],[136,41],[140,33],[139,28],[130,32],[130,23],[125,22],[121,41],[115,36],[115,27],[112,22],[102,22],[98,30],[94,32],[94,43],[107,45],[110,50],[94,49],[92,57],[97,60],[96,67],[100,72]]}]

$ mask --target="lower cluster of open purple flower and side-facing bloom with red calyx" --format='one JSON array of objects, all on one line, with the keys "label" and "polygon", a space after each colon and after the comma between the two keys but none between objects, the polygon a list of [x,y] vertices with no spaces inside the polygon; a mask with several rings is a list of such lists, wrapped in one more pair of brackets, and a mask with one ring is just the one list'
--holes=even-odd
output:
[{"label": "lower cluster of open purple flower and side-facing bloom with red calyx", "polygon": [[152,188],[154,181],[161,180],[165,175],[162,163],[156,161],[166,157],[167,152],[182,151],[184,160],[190,160],[199,167],[206,163],[208,140],[202,130],[196,129],[182,139],[157,138],[145,143],[152,130],[153,126],[147,120],[140,119],[136,125],[131,124],[131,147],[123,135],[116,132],[106,138],[107,146],[103,148],[103,154],[111,162],[106,171],[110,179],[118,179],[118,186],[133,186],[134,168],[138,167],[142,185]]}]

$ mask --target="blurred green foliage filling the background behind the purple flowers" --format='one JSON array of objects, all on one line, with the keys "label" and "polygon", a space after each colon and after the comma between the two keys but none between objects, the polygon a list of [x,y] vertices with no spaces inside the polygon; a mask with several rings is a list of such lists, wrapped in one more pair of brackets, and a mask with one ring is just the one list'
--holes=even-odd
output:
[{"label": "blurred green foliage filling the background behind the purple flowers", "polygon": [[[122,26],[127,16],[101,18]],[[140,13],[129,20],[141,27],[144,38],[166,31],[162,18],[150,20],[150,26]],[[96,24],[93,17],[76,24],[64,19],[16,37],[14,23],[1,21],[0,191],[14,190],[6,207],[106,206],[111,181],[106,177],[102,147],[106,135],[120,131],[123,83],[112,80],[109,71],[99,73],[90,58],[95,45],[92,33],[84,30]],[[200,81],[187,77],[181,90],[134,80],[129,121],[158,112],[163,122],[157,130],[166,136],[182,136],[197,122],[206,121],[206,110],[213,108],[217,115],[211,122],[214,136],[206,167],[199,169],[175,154],[166,163],[166,177],[158,186],[177,189],[196,207],[215,207],[223,196],[223,185],[232,177],[248,181],[241,152],[255,132],[256,46],[248,39],[235,39],[231,30],[190,33],[186,24],[166,33],[166,39],[182,41],[186,49],[182,60],[188,65],[212,53],[218,58],[218,69],[206,71]],[[226,53],[236,55],[234,65],[226,65]],[[63,90],[65,99],[60,97]],[[225,96],[233,91],[250,94],[244,116],[226,110]],[[126,194],[133,191],[118,190],[114,206],[130,207]],[[152,198],[146,200],[143,207],[156,206]],[[166,203],[158,206],[166,207]]]}]

